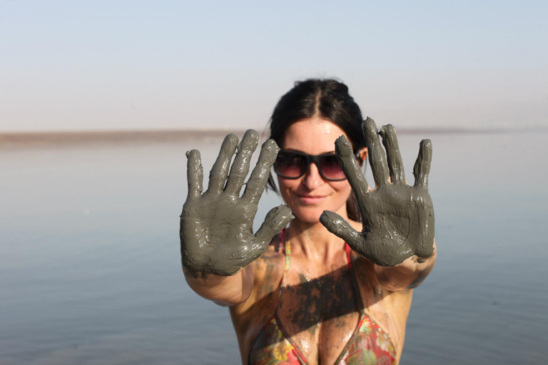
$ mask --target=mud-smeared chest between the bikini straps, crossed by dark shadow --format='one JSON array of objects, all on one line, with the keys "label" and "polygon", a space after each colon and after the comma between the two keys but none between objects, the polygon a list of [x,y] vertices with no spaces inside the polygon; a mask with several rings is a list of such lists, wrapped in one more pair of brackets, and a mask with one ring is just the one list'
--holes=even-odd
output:
[{"label": "mud-smeared chest between the bikini straps, crossed by dark shadow", "polygon": [[278,320],[310,364],[335,363],[355,334],[362,309],[355,285],[347,266],[314,279],[288,274]]}]

